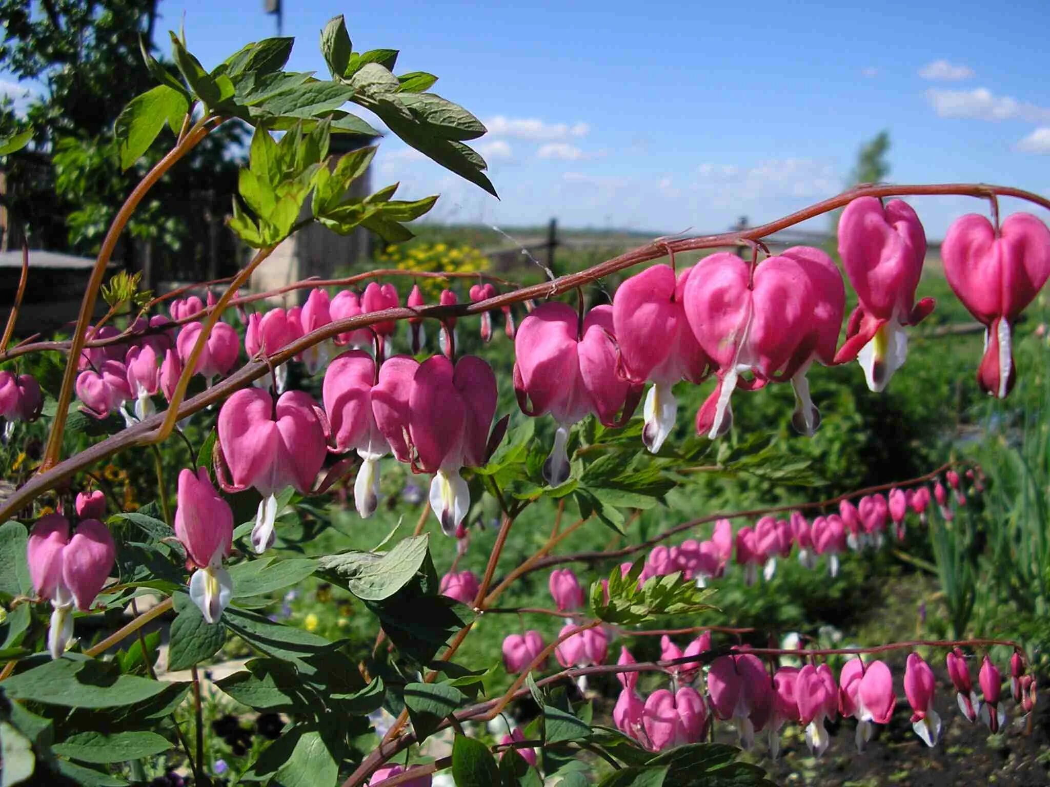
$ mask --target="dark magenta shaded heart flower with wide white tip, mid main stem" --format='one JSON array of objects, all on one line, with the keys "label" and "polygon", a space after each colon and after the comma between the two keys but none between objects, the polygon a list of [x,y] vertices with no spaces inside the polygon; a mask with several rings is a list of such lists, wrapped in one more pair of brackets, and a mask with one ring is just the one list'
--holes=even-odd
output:
[{"label": "dark magenta shaded heart flower with wide white tip, mid main stem", "polygon": [[413,377],[408,434],[417,468],[434,473],[430,508],[445,535],[456,532],[470,507],[460,468],[485,464],[496,400],[492,367],[474,356],[463,356],[455,366],[444,356],[433,356]]}]

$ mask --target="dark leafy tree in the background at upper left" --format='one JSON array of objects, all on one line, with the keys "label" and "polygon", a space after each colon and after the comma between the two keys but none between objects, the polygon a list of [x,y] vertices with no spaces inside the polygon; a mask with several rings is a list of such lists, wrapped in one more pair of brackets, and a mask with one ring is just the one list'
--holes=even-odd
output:
[{"label": "dark leafy tree in the background at upper left", "polygon": [[[152,49],[155,20],[156,0],[0,0],[0,69],[43,88],[24,119],[9,100],[0,107],[0,132],[26,122],[34,129],[33,149],[8,156],[4,195],[12,226],[24,226],[32,246],[96,252],[133,185],[170,148],[172,132],[163,132],[124,171],[113,135],[121,110],[152,84],[140,42]],[[236,188],[229,151],[243,135],[239,124],[224,125],[164,178],[118,259],[143,269],[152,258],[153,278],[190,259],[210,262],[202,277],[222,273],[216,260],[232,261],[235,249],[220,224]]]}]

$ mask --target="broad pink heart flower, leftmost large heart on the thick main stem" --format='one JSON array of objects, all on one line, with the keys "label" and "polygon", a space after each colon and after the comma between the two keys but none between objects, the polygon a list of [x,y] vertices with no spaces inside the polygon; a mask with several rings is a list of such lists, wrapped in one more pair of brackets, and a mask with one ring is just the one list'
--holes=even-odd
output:
[{"label": "broad pink heart flower, leftmost large heart on the thick main stem", "polygon": [[253,487],[259,502],[252,529],[252,547],[262,554],[274,541],[277,492],[294,487],[307,493],[328,453],[324,412],[301,390],[273,397],[258,388],[242,388],[226,400],[218,411],[219,455],[233,476],[225,481],[222,468],[215,475],[226,491]]}]

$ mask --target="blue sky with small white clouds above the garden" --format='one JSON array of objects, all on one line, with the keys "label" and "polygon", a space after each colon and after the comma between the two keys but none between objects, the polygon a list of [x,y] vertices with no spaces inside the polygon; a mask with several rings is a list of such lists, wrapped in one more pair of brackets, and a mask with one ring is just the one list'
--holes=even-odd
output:
[{"label": "blue sky with small white clouds above the garden", "polygon": [[[1050,193],[1042,0],[285,4],[291,68],[324,72],[319,30],[345,13],[356,50],[401,49],[397,71],[438,75],[434,92],[489,127],[476,142],[501,201],[382,143],[374,185],[441,193],[438,220],[662,233],[769,220],[839,191],[883,128],[890,180]],[[275,30],[262,0],[162,0],[162,50],[184,12],[206,67]],[[984,210],[914,204],[931,237]]]}]

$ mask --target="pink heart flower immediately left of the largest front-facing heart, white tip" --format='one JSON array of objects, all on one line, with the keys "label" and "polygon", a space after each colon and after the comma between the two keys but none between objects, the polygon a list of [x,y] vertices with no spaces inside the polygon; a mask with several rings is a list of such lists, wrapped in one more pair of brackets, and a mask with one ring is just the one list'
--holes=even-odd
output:
[{"label": "pink heart flower immediately left of the largest front-facing heart, white tip", "polygon": [[653,265],[624,281],[612,300],[621,371],[634,383],[653,383],[643,406],[642,432],[653,453],[674,428],[678,405],[672,386],[679,380],[700,383],[711,373],[682,305],[692,272],[687,268],[675,280],[670,265]]}]

